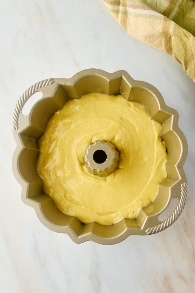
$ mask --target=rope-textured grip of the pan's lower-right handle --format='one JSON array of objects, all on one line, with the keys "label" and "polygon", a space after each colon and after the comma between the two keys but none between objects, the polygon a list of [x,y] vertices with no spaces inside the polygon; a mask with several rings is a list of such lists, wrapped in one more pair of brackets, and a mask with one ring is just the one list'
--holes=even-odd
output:
[{"label": "rope-textured grip of the pan's lower-right handle", "polygon": [[185,183],[181,184],[181,198],[179,200],[179,203],[177,204],[175,211],[164,222],[162,222],[158,226],[148,228],[146,230],[146,233],[148,235],[158,233],[158,232],[165,230],[166,228],[171,226],[179,218],[179,216],[181,215],[181,213],[185,207],[185,204],[186,204],[187,193],[188,193],[188,185],[185,182]]}]

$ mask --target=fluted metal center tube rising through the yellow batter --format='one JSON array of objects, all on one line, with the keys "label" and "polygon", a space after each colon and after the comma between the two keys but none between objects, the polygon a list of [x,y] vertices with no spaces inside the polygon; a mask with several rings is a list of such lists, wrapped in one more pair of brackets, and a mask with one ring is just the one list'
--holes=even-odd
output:
[{"label": "fluted metal center tube rising through the yellow batter", "polygon": [[118,168],[120,154],[113,143],[96,140],[87,147],[83,159],[90,173],[108,176]]}]

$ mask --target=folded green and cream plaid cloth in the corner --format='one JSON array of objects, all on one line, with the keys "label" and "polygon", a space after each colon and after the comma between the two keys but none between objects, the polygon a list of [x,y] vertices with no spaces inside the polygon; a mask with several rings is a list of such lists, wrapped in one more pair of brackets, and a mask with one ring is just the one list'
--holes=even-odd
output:
[{"label": "folded green and cream plaid cloth in the corner", "polygon": [[134,38],[172,54],[195,82],[195,0],[103,0]]}]

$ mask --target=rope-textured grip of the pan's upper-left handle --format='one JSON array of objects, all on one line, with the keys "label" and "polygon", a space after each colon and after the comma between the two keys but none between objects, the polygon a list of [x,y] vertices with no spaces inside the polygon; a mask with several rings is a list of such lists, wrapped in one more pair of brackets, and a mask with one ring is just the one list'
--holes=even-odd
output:
[{"label": "rope-textured grip of the pan's upper-left handle", "polygon": [[30,96],[32,96],[32,94],[34,94],[38,89],[41,89],[42,87],[47,86],[47,85],[52,85],[52,83],[54,83],[53,78],[44,79],[42,81],[35,83],[34,85],[31,85],[30,88],[28,88],[22,94],[22,96],[19,98],[19,100],[16,104],[16,107],[14,109],[14,112],[13,112],[12,125],[13,125],[14,130],[18,129],[19,114],[22,110],[23,105],[26,103],[27,99],[29,99]]}]

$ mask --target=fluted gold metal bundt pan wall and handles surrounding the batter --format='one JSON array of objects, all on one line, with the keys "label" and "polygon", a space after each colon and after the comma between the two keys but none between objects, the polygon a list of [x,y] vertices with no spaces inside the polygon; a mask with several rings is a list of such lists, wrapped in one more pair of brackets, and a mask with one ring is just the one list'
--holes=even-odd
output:
[{"label": "fluted gold metal bundt pan wall and handles surrounding the batter", "polygon": [[[24,116],[21,113],[22,108],[35,92],[41,92],[42,98],[34,104],[30,114]],[[96,222],[83,224],[76,217],[60,212],[53,199],[42,191],[42,181],[36,170],[39,153],[37,139],[44,133],[45,125],[52,114],[62,108],[68,99],[78,99],[89,92],[107,95],[120,93],[127,100],[142,104],[151,118],[162,125],[161,138],[166,144],[168,154],[168,177],[160,183],[156,199],[142,208],[137,219],[123,219],[110,226]],[[178,127],[178,113],[165,105],[160,92],[154,86],[134,80],[126,71],[108,73],[87,69],[72,78],[50,78],[37,82],[23,93],[16,104],[13,133],[17,147],[12,168],[22,186],[22,201],[35,209],[46,227],[68,234],[76,243],[91,240],[100,244],[115,244],[132,234],[154,234],[172,225],[183,211],[187,198],[187,180],[183,171],[187,142]],[[167,219],[160,221],[159,215],[174,197],[178,200],[175,210]]]}]

